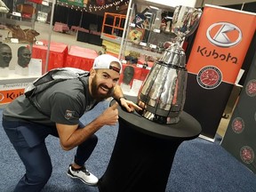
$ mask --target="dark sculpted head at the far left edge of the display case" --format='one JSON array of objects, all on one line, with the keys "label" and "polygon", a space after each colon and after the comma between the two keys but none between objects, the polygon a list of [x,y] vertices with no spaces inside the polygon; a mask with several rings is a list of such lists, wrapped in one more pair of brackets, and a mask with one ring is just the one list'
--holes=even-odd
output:
[{"label": "dark sculpted head at the far left edge of the display case", "polygon": [[12,60],[12,49],[8,44],[0,44],[0,76],[8,76]]}]

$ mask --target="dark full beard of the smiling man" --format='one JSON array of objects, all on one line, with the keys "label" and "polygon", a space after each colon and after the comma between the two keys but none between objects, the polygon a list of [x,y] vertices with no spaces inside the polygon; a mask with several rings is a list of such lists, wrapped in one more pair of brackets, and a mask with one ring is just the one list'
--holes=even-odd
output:
[{"label": "dark full beard of the smiling man", "polygon": [[99,93],[99,89],[100,86],[103,86],[105,88],[108,88],[107,85],[105,84],[97,84],[97,76],[94,76],[92,78],[92,97],[97,100],[97,101],[101,101],[101,100],[106,100],[107,98],[111,97],[111,94],[113,92],[113,87],[111,89],[108,90],[107,94],[100,94]]}]

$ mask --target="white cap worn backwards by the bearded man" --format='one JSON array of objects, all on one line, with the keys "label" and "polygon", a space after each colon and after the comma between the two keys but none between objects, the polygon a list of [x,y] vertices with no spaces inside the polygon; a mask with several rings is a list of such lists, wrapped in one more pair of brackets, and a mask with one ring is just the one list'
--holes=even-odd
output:
[{"label": "white cap worn backwards by the bearded man", "polygon": [[[116,62],[119,64],[119,68],[117,68],[116,66],[114,66],[112,64],[112,62]],[[120,60],[118,60],[116,57],[112,56],[112,55],[108,55],[108,54],[101,54],[100,56],[98,56],[97,58],[95,58],[92,68],[108,68],[108,69],[113,69],[115,70],[117,73],[121,73],[122,71],[122,63],[120,62]]]}]

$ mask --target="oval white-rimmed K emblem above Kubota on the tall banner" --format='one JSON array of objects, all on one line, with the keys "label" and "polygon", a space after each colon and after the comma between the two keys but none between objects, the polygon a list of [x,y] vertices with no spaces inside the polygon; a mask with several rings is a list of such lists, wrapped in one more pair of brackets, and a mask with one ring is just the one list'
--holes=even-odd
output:
[{"label": "oval white-rimmed K emblem above Kubota on the tall banner", "polygon": [[242,31],[236,25],[228,22],[212,24],[206,31],[208,40],[220,47],[230,47],[242,40]]}]

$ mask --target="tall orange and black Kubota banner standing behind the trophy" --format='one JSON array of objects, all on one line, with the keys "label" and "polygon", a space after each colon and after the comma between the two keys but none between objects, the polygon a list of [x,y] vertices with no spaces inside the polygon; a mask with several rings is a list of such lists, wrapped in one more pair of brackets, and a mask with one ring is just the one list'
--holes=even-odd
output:
[{"label": "tall orange and black Kubota banner standing behind the trophy", "polygon": [[236,76],[252,41],[255,14],[205,5],[188,58],[184,110],[196,117],[202,134],[214,138]]}]

